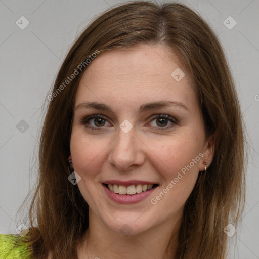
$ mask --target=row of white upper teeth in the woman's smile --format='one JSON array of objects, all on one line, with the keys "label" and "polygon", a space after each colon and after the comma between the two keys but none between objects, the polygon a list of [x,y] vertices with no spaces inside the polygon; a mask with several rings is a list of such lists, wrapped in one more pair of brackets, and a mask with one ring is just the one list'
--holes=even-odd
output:
[{"label": "row of white upper teeth in the woman's smile", "polygon": [[147,190],[150,190],[153,187],[153,184],[137,184],[130,185],[130,186],[124,186],[124,185],[117,185],[117,184],[108,184],[108,188],[115,193],[119,194],[129,194],[133,195],[140,192],[145,192]]}]

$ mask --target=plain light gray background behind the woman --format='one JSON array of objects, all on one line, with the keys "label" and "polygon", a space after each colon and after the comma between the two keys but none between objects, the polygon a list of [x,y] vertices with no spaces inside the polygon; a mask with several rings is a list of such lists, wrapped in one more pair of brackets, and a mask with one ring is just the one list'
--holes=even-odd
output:
[{"label": "plain light gray background behind the woman", "polygon": [[[16,213],[35,182],[39,129],[46,112],[42,105],[62,60],[90,20],[122,2],[128,1],[0,0],[0,233],[16,233],[23,223]],[[245,212],[237,233],[229,238],[229,258],[259,258],[259,1],[180,2],[212,26],[235,78],[247,126],[249,162]],[[21,16],[29,21],[24,30],[16,25]],[[229,16],[237,22],[232,29],[224,25]]]}]

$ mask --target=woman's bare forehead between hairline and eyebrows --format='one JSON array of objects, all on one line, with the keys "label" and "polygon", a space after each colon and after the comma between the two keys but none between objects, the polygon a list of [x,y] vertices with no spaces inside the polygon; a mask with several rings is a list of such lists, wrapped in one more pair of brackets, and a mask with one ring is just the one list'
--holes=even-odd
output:
[{"label": "woman's bare forehead between hairline and eyebrows", "polygon": [[85,99],[111,102],[111,98],[129,102],[174,98],[193,103],[196,95],[187,71],[171,50],[163,45],[141,45],[103,52],[83,73],[75,105]]}]

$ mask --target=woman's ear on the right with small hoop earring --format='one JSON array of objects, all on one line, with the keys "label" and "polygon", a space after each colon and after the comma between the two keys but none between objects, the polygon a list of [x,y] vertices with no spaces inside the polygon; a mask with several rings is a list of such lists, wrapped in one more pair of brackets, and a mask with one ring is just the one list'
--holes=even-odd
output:
[{"label": "woman's ear on the right with small hoop earring", "polygon": [[205,141],[205,144],[203,146],[203,157],[199,161],[199,171],[204,171],[205,166],[206,168],[209,167],[209,165],[212,162],[213,155],[214,155],[214,148],[215,148],[215,135],[210,135],[207,140]]}]

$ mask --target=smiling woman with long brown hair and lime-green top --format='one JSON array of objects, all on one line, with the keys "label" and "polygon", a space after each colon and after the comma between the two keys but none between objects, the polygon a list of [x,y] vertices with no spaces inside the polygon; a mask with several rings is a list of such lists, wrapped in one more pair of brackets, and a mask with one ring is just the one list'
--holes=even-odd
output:
[{"label": "smiling woman with long brown hair and lime-green top", "polygon": [[196,13],[105,12],[48,100],[23,258],[226,258],[224,228],[244,202],[243,126],[223,50]]}]

